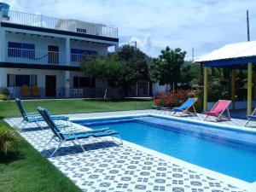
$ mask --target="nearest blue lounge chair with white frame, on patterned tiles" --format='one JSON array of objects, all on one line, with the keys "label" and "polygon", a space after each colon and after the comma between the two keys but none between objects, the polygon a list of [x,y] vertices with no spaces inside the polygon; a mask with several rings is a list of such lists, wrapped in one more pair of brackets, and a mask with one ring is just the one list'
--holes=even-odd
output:
[{"label": "nearest blue lounge chair with white frame, on patterned tiles", "polygon": [[[72,125],[56,125],[55,121],[51,118],[49,111],[45,108],[38,108],[38,112],[42,115],[47,125],[49,125],[50,130],[53,132],[53,136],[50,138],[49,142],[45,145],[44,149],[47,145],[55,139],[59,142],[57,148],[55,148],[54,152],[50,154],[52,157],[55,152],[61,147],[61,145],[65,142],[74,141],[79,143],[80,139],[88,139],[90,137],[119,137],[119,133],[117,131],[106,129],[93,130],[93,131],[83,131],[81,129],[77,129]],[[123,144],[122,139],[119,137],[120,143]],[[84,147],[79,143],[79,146],[84,150]]]}]

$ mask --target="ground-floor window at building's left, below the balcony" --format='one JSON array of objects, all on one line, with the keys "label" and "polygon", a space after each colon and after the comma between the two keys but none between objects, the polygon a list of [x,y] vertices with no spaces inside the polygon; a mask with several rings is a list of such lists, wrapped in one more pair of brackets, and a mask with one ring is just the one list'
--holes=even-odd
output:
[{"label": "ground-floor window at building's left, below the balcony", "polygon": [[38,85],[37,75],[20,75],[20,74],[7,74],[8,87],[21,87],[26,84],[27,86]]}]

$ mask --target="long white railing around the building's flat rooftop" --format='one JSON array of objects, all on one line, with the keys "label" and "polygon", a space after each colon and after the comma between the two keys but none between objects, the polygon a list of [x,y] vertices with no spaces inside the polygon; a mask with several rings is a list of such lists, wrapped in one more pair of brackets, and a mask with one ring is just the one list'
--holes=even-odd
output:
[{"label": "long white railing around the building's flat rooftop", "polygon": [[79,32],[108,38],[118,38],[118,29],[80,20],[63,20],[44,15],[27,14],[13,10],[1,10],[1,21],[25,26],[38,26],[68,32]]}]

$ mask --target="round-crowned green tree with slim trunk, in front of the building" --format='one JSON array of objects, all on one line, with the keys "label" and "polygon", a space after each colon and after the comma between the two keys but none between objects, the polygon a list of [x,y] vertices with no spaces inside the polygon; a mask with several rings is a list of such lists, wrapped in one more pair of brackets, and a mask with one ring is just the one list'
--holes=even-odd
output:
[{"label": "round-crowned green tree with slim trunk, in front of the building", "polygon": [[120,87],[127,71],[127,67],[117,60],[116,55],[96,55],[82,61],[80,67],[87,77],[102,80],[104,99],[107,98],[108,86]]}]

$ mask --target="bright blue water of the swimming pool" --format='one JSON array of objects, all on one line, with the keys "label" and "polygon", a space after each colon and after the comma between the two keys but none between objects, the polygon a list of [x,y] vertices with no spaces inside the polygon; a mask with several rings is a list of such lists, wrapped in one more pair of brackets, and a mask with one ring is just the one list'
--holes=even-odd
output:
[{"label": "bright blue water of the swimming pool", "polygon": [[247,182],[256,181],[256,134],[172,119],[141,117],[77,121],[109,127],[131,143]]}]

